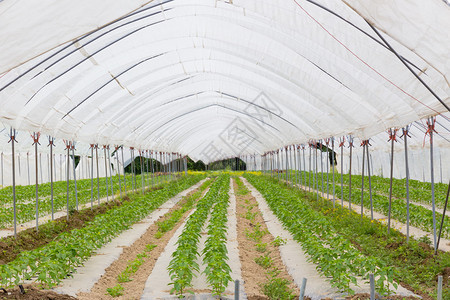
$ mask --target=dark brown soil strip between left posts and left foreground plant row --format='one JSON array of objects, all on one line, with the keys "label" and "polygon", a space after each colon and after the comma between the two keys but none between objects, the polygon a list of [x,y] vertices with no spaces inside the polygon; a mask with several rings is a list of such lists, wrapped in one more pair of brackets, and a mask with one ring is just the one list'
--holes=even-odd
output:
[{"label": "dark brown soil strip between left posts and left foreground plant row", "polygon": [[54,222],[45,223],[39,226],[39,232],[35,228],[29,228],[17,233],[17,238],[8,236],[0,239],[0,265],[13,261],[17,255],[23,251],[29,251],[53,241],[60,234],[71,231],[72,229],[82,228],[86,223],[94,219],[96,215],[103,214],[113,207],[122,205],[123,201],[128,201],[125,197],[122,201],[109,201],[94,206],[93,209],[85,208],[75,211],[69,217],[55,219]]}]

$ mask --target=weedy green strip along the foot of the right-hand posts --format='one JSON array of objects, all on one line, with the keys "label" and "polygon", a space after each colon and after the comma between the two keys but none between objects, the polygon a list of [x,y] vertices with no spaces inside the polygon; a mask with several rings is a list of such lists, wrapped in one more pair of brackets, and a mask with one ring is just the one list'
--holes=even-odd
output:
[{"label": "weedy green strip along the foot of the right-hand posts", "polygon": [[[265,176],[264,176],[265,177]],[[265,181],[275,180],[265,177]],[[333,207],[332,201],[277,183],[278,188],[295,196],[295,201],[303,202],[330,220],[333,228],[354,244],[363,254],[377,257],[384,265],[394,268],[396,282],[412,289],[424,299],[436,299],[437,276],[448,278],[450,253],[433,249],[424,240],[406,237],[396,230],[387,235],[386,225],[368,217],[361,216],[339,205]],[[444,280],[443,299],[450,299],[450,282]]]}]

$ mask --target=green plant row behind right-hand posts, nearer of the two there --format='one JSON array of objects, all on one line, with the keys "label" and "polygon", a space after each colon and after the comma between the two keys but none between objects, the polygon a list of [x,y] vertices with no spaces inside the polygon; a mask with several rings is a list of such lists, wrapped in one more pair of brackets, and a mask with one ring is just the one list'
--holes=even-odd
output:
[{"label": "green plant row behind right-hand posts, nearer of the two there", "polygon": [[[324,181],[322,181],[322,177],[317,176],[316,188],[322,190],[322,183],[324,185],[324,192],[327,191],[327,181],[326,177]],[[389,189],[389,187],[387,187]],[[336,197],[341,198],[343,195],[345,201],[349,201],[350,199],[350,188],[347,185],[344,185],[343,189],[341,185],[336,184],[334,187],[336,191]],[[331,195],[333,194],[333,182],[328,184],[328,190],[331,191]],[[343,193],[342,193],[343,192]],[[332,198],[332,196],[330,196]],[[361,205],[361,189],[358,188],[357,185],[352,185],[352,194],[351,194],[351,202],[352,204]],[[364,189],[363,193],[363,205],[366,208],[370,208],[370,193],[368,188]],[[376,212],[382,213],[384,215],[388,215],[389,213],[389,197],[385,194],[380,194],[375,191],[372,191],[372,205],[373,209]],[[442,214],[439,212],[435,213],[437,223],[442,220]],[[400,198],[392,198],[391,201],[391,218],[398,220],[400,222],[406,223],[407,220],[407,211],[406,211],[406,202],[404,199]],[[412,226],[425,230],[427,232],[433,232],[433,212],[423,206],[416,205],[410,203],[409,205],[409,220]],[[444,224],[450,224],[450,218],[445,216]],[[450,237],[450,227],[444,226],[442,229],[442,236],[445,238]]]}]

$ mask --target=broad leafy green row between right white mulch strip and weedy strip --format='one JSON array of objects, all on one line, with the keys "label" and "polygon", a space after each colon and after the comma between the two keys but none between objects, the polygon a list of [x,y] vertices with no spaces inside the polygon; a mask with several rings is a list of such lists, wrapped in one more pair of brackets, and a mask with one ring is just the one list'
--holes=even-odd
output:
[{"label": "broad leafy green row between right white mulch strip and weedy strip", "polygon": [[318,271],[330,278],[332,286],[353,293],[351,283],[357,277],[369,278],[373,273],[379,292],[389,292],[394,284],[394,270],[373,256],[365,256],[345,237],[331,220],[299,199],[296,191],[280,189],[280,185],[265,176],[246,174],[247,180],[264,196],[270,209],[292,234],[294,239],[318,265]]}]

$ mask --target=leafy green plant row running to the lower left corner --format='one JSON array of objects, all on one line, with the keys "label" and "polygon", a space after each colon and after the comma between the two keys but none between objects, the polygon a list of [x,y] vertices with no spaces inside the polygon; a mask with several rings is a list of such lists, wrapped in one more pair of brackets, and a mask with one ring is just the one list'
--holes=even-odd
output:
[{"label": "leafy green plant row running to the lower left corner", "polygon": [[87,226],[64,233],[44,247],[23,252],[14,261],[1,265],[1,285],[17,285],[32,278],[47,286],[58,284],[95,250],[202,178],[204,175],[187,176],[168,183],[164,189],[128,195],[130,201],[96,216]]}]

